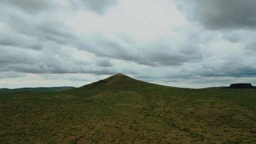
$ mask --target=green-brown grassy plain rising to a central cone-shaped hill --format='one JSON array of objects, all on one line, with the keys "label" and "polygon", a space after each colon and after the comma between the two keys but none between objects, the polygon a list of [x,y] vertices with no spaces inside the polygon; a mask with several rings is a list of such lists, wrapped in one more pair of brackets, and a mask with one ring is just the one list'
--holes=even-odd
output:
[{"label": "green-brown grassy plain rising to a central cone-shaped hill", "polygon": [[118,74],[0,95],[1,144],[254,144],[256,89],[183,89]]}]

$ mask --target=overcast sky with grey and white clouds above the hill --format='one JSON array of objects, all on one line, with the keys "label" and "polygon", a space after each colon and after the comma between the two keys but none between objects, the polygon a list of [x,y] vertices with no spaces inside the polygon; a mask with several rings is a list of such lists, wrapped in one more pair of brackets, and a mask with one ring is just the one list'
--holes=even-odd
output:
[{"label": "overcast sky with grey and white clouds above the hill", "polygon": [[80,87],[116,73],[256,85],[256,0],[0,1],[0,88]]}]

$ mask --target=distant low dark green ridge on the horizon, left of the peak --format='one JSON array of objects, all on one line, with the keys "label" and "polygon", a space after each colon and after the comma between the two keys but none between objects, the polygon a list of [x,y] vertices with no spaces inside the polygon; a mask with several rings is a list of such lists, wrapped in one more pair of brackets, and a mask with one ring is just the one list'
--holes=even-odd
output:
[{"label": "distant low dark green ridge on the horizon, left of the peak", "polygon": [[0,94],[14,93],[19,91],[62,91],[62,90],[71,90],[75,87],[39,87],[39,88],[18,88],[18,89],[0,89]]}]

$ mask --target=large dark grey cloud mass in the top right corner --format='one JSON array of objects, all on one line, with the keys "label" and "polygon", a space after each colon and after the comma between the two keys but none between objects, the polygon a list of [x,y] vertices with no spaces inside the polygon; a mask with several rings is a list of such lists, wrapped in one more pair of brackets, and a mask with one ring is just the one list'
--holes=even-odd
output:
[{"label": "large dark grey cloud mass in the top right corner", "polygon": [[183,0],[178,7],[208,29],[255,29],[256,0]]}]

